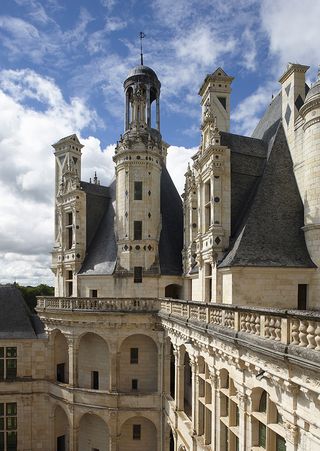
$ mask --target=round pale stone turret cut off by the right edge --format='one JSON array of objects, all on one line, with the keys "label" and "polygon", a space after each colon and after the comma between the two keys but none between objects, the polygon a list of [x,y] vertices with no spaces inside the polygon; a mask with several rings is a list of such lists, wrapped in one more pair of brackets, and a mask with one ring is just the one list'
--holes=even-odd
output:
[{"label": "round pale stone turret cut off by the right edge", "polygon": [[320,71],[300,114],[304,130],[304,232],[310,256],[320,266]]}]

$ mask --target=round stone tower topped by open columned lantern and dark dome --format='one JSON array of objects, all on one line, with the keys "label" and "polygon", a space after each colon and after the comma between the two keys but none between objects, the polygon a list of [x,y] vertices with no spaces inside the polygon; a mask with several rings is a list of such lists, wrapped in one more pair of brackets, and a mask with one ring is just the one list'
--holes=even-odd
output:
[{"label": "round stone tower topped by open columned lantern and dark dome", "polygon": [[160,134],[160,81],[147,66],[124,82],[124,134],[116,147],[116,273],[159,273],[160,177],[167,145]]}]

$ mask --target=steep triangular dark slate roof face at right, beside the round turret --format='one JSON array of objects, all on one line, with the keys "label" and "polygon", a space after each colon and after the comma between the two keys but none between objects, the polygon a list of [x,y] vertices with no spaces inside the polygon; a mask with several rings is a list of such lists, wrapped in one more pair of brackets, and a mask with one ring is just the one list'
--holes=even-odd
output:
[{"label": "steep triangular dark slate roof face at right, beside the round turret", "polygon": [[270,147],[263,173],[243,205],[242,223],[231,237],[230,249],[220,268],[315,267],[301,230],[303,203],[281,123]]}]

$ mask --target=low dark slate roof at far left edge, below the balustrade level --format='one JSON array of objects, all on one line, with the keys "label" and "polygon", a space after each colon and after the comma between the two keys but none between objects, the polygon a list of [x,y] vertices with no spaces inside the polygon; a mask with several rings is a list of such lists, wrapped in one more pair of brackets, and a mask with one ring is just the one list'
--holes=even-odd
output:
[{"label": "low dark slate roof at far left edge, below the balustrade level", "polygon": [[44,338],[44,326],[31,313],[18,288],[0,286],[0,339]]}]

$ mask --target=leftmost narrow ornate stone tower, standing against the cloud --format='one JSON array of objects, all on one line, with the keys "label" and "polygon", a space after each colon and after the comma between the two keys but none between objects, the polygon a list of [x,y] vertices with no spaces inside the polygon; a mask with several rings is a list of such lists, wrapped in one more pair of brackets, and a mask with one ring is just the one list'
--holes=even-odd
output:
[{"label": "leftmost narrow ornate stone tower, standing against the cloud", "polygon": [[76,296],[75,274],[85,257],[85,193],[80,188],[81,149],[76,135],[60,139],[55,149],[55,244],[51,269],[56,296]]}]

